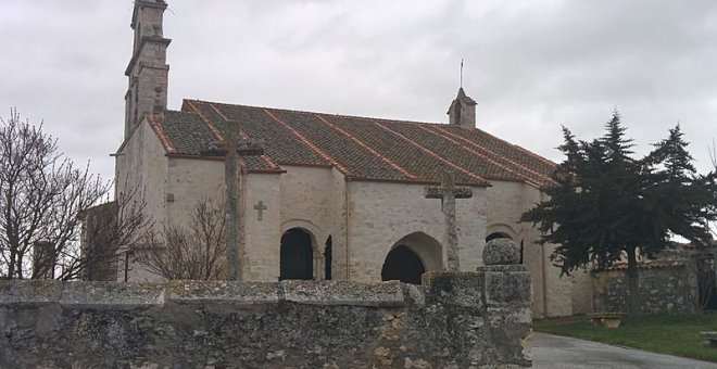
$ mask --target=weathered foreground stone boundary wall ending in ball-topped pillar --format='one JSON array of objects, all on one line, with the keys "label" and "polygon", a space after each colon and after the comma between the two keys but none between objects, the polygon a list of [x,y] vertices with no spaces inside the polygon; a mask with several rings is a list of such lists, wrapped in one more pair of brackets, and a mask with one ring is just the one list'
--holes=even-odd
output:
[{"label": "weathered foreground stone boundary wall ending in ball-topped pillar", "polygon": [[400,282],[0,282],[0,368],[517,368],[518,265]]}]

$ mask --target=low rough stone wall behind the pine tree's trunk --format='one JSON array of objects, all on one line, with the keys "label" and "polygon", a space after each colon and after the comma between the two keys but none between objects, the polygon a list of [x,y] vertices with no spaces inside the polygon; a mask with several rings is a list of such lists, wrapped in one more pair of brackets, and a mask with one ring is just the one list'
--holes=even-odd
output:
[{"label": "low rough stone wall behind the pine tree's trunk", "polygon": [[[640,270],[641,313],[678,314],[693,313],[690,296],[696,296],[696,278],[684,264],[644,264]],[[627,270],[618,267],[594,273],[592,278],[595,311],[630,310]],[[691,290],[692,292],[690,292]]]}]

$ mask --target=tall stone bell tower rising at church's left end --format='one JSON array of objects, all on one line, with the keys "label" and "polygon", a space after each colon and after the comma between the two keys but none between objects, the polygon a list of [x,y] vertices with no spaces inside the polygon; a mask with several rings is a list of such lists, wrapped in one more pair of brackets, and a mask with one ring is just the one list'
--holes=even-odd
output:
[{"label": "tall stone bell tower rising at church's left end", "polygon": [[135,43],[125,69],[129,86],[125,93],[125,139],[146,114],[162,115],[167,105],[169,66],[166,51],[171,39],[162,36],[164,0],[135,0],[131,29]]}]

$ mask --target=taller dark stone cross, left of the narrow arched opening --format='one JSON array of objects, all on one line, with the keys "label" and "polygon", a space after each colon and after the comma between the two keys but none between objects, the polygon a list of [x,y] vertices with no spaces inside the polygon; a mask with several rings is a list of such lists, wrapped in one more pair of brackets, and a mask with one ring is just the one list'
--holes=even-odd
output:
[{"label": "taller dark stone cross, left of the narrow arched opening", "polygon": [[224,181],[226,184],[226,246],[227,246],[227,276],[226,279],[236,281],[241,279],[242,260],[239,247],[243,246],[244,234],[239,230],[239,156],[257,156],[264,154],[262,140],[238,140],[237,123],[227,120],[226,138],[213,144],[210,150],[202,151],[203,155],[224,156]]}]

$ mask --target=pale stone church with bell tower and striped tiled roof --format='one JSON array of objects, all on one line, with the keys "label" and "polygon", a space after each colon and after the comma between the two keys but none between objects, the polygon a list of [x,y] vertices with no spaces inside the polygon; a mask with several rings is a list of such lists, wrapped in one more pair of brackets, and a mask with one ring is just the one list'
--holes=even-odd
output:
[{"label": "pale stone church with bell tower and striped tiled roof", "polygon": [[[517,221],[543,199],[555,164],[477,127],[476,102],[463,89],[448,124],[199,100],[168,110],[166,7],[135,1],[125,137],[116,153],[116,193],[141,189],[158,224],[186,222],[202,198],[224,202],[224,157],[207,152],[236,124],[240,139],[265,148],[240,160],[244,280],[417,282],[424,271],[443,270],[442,201],[427,199],[425,189],[448,169],[473,190],[455,200],[461,270],[482,265],[487,240],[510,238],[531,272],[534,316],[583,311],[576,281],[559,279],[548,259],[552,247],[536,244],[538,231]],[[153,278],[137,265],[129,276]]]}]

